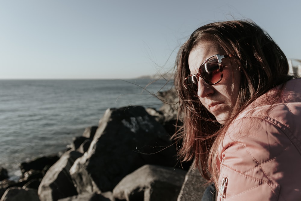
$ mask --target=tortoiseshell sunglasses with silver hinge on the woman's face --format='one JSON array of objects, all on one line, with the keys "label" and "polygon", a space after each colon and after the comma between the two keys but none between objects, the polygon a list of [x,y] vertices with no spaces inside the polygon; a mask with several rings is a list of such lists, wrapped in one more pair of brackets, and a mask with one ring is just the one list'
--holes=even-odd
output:
[{"label": "tortoiseshell sunglasses with silver hinge on the woman's face", "polygon": [[199,77],[207,84],[217,84],[223,78],[222,59],[232,57],[229,55],[213,55],[207,58],[199,68],[197,74],[190,74],[185,77],[184,87],[186,90],[197,93]]}]

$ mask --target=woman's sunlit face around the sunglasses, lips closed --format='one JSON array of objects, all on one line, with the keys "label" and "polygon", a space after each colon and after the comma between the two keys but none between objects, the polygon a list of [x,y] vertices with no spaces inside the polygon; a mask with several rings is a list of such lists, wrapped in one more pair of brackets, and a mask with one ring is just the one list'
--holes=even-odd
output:
[{"label": "woman's sunlit face around the sunglasses, lips closed", "polygon": [[[214,42],[199,42],[189,54],[190,74],[197,74],[200,65],[207,58],[216,54],[225,55],[225,51]],[[224,124],[225,120],[230,117],[240,88],[240,71],[237,62],[233,58],[224,58],[222,59],[222,65],[224,67],[222,80],[217,84],[210,85],[199,77],[197,90],[197,96],[201,103],[216,117],[220,124]]]}]

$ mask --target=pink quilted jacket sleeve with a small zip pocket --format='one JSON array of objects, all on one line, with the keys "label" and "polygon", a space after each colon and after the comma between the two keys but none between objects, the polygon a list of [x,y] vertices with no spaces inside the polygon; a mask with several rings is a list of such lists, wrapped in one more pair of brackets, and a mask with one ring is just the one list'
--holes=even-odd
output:
[{"label": "pink quilted jacket sleeve with a small zip pocket", "polygon": [[233,122],[220,151],[218,200],[278,200],[278,156],[290,146],[282,130],[265,119]]}]

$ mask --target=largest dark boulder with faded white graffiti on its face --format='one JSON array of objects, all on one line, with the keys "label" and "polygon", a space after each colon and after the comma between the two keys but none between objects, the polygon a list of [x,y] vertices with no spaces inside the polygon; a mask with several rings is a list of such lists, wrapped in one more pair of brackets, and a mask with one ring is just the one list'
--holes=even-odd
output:
[{"label": "largest dark boulder with faded white graffiti on its face", "polygon": [[70,169],[78,193],[112,191],[145,164],[174,166],[170,137],[141,106],[107,109],[85,154]]}]

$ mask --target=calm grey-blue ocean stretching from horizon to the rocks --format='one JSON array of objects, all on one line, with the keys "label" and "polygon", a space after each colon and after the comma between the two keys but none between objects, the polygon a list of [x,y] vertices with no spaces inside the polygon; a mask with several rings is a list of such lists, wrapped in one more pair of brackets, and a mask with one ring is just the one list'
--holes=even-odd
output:
[{"label": "calm grey-blue ocean stretching from horizon to the rocks", "polygon": [[[19,165],[66,149],[107,108],[160,108],[153,96],[173,83],[137,80],[0,80],[0,167],[11,179]],[[167,83],[167,85],[166,85]]]}]

